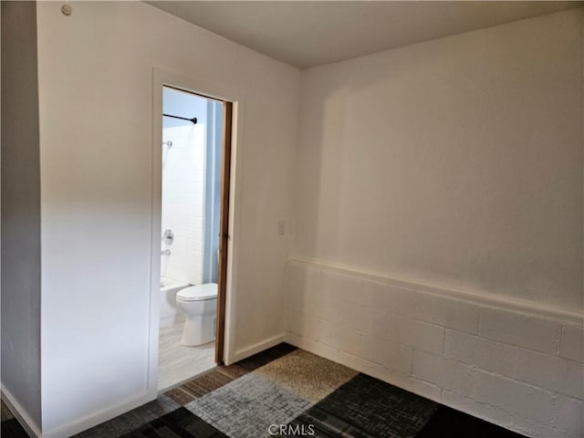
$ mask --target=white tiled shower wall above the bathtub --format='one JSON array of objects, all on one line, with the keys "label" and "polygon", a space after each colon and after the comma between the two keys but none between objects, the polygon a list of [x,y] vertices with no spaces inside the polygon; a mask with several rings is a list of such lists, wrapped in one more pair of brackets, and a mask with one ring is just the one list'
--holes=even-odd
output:
[{"label": "white tiled shower wall above the bathtub", "polygon": [[171,255],[162,255],[162,276],[183,283],[203,282],[204,126],[162,130],[162,231],[170,228]]}]

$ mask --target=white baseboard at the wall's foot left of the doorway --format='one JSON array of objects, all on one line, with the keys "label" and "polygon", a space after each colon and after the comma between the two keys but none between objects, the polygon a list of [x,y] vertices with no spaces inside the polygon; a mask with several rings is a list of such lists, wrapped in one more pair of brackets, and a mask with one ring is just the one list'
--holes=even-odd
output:
[{"label": "white baseboard at the wall's foot left of the doorway", "polygon": [[47,433],[43,433],[39,438],[63,438],[64,436],[73,436],[77,433],[86,431],[93,426],[97,426],[101,422],[107,422],[108,420],[135,409],[155,398],[156,395],[152,398],[148,393],[142,392],[138,396],[121,401],[110,408],[102,409],[99,412],[91,413],[79,420],[58,426]]}]

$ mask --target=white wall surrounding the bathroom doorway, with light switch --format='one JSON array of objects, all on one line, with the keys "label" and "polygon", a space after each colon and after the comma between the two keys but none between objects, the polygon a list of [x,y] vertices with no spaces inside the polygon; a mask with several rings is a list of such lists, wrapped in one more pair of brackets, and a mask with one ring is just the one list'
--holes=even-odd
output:
[{"label": "white wall surrounding the bathroom doorway, with light switch", "polygon": [[237,139],[245,234],[233,284],[239,355],[283,332],[288,236],[276,234],[276,221],[291,215],[299,94],[296,68],[150,5],[69,5],[68,17],[60,5],[37,6],[42,427],[55,436],[145,397],[152,68],[245,95]]}]

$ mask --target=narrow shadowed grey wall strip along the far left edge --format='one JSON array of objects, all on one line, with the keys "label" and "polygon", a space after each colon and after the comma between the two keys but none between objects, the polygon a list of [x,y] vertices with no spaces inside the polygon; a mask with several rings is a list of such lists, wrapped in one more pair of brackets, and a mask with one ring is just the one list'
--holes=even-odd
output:
[{"label": "narrow shadowed grey wall strip along the far left edge", "polygon": [[36,5],[2,2],[2,391],[41,421]]}]

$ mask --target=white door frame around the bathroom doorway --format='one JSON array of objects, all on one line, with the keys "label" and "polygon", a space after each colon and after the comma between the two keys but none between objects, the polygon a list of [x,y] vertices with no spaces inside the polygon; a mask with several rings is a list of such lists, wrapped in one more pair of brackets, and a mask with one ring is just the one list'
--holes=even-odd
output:
[{"label": "white door frame around the bathroom doorway", "polygon": [[[241,198],[241,169],[242,162],[242,126],[244,115],[244,95],[241,91],[229,85],[193,78],[174,73],[162,68],[152,69],[152,143],[151,143],[151,291],[149,315],[149,353],[148,353],[148,394],[152,399],[158,394],[158,343],[160,326],[160,233],[162,222],[162,87],[182,89],[200,96],[227,102],[224,109],[231,107],[231,135],[224,135],[224,148],[230,147],[230,162],[228,169],[224,169],[225,151],[222,156],[222,182],[225,172],[228,171],[229,184],[222,187],[222,248],[218,271],[219,290],[217,292],[217,327],[223,328],[223,336],[217,333],[215,340],[215,361],[225,364],[233,363],[235,357],[235,285],[237,278],[237,249],[239,244],[240,214],[238,202]],[[224,126],[226,120],[224,119]],[[225,189],[225,190],[224,190]],[[225,197],[224,197],[225,194]],[[224,202],[228,200],[228,214],[223,221]],[[224,229],[227,233],[223,233]],[[226,245],[226,251],[224,250]],[[225,266],[226,265],[226,266]],[[223,274],[223,276],[222,276]],[[223,278],[223,281],[222,281]],[[223,324],[222,324],[223,320]],[[221,339],[220,339],[221,337]]]}]

